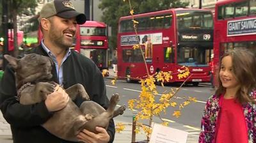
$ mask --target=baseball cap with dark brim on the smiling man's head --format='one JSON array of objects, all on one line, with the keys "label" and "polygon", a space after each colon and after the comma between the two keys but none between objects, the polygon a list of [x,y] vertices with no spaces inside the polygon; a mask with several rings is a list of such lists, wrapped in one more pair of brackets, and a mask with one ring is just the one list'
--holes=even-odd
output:
[{"label": "baseball cap with dark brim on the smiling man's head", "polygon": [[52,17],[54,15],[63,19],[76,17],[77,24],[84,24],[86,22],[84,13],[77,12],[73,4],[68,0],[53,0],[44,4],[40,11],[38,21],[40,22],[42,18]]}]

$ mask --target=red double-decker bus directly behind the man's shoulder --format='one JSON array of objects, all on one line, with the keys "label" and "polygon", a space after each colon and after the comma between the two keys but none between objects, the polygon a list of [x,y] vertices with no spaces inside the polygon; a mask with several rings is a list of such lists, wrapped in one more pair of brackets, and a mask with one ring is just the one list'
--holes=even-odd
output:
[{"label": "red double-decker bus directly behind the man's shoulder", "polygon": [[100,70],[108,69],[108,35],[103,22],[86,21],[77,28],[74,49],[94,61]]}]

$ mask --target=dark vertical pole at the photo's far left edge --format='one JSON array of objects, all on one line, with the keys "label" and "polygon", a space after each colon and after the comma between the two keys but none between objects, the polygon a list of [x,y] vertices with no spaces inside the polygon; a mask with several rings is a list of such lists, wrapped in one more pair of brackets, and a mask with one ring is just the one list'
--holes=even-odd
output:
[{"label": "dark vertical pole at the photo's far left edge", "polygon": [[[3,8],[3,17],[2,17],[2,26],[3,26],[3,38],[4,38],[4,49],[3,55],[8,54],[8,2],[6,0],[2,0],[2,8]],[[6,59],[3,59],[3,70],[7,64]]]}]

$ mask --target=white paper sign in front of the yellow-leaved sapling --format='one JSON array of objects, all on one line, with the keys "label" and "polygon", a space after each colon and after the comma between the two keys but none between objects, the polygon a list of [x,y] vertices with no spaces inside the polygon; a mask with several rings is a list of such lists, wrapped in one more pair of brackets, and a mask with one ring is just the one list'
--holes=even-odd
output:
[{"label": "white paper sign in front of the yellow-leaved sapling", "polygon": [[149,143],[186,143],[188,132],[154,124]]}]

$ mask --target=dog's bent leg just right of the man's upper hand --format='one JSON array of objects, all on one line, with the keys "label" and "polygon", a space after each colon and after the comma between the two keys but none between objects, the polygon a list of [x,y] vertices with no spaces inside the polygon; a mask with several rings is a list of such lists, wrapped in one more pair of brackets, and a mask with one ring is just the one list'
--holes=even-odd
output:
[{"label": "dog's bent leg just right of the man's upper hand", "polygon": [[86,93],[82,84],[74,84],[65,90],[72,100],[76,99],[76,96],[82,96],[85,100],[90,100],[88,93]]}]

